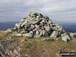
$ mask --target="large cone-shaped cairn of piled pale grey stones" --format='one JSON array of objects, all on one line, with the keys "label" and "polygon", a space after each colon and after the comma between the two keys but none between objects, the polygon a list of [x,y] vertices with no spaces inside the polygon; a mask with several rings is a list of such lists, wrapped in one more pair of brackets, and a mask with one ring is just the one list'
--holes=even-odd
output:
[{"label": "large cone-shaped cairn of piled pale grey stones", "polygon": [[38,12],[30,12],[29,16],[23,18],[15,27],[7,32],[17,36],[39,38],[50,36],[52,38],[61,37],[63,41],[71,40],[69,34],[59,24],[55,24],[48,16],[43,16]]}]

